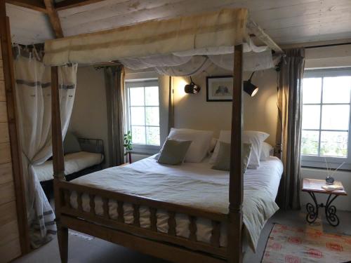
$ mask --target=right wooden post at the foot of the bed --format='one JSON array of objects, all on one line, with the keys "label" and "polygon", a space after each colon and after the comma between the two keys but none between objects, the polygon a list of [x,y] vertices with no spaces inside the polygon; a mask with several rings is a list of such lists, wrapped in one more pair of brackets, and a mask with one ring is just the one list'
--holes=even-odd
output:
[{"label": "right wooden post at the foot of the bed", "polygon": [[228,262],[242,262],[242,201],[244,178],[241,168],[242,132],[242,45],[234,47],[234,86],[232,102],[232,135],[230,151],[229,182],[229,224],[228,224]]}]

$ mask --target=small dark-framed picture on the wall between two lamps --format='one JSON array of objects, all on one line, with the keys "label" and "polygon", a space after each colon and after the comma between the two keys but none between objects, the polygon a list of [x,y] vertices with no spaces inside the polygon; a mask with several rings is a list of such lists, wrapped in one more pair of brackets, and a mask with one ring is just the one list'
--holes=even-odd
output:
[{"label": "small dark-framed picture on the wall between two lamps", "polygon": [[206,101],[231,102],[233,95],[232,76],[206,77]]}]

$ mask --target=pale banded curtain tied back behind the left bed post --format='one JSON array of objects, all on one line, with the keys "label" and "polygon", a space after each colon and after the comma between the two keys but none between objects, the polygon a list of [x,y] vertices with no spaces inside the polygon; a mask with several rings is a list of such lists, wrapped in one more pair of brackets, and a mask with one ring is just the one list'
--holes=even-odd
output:
[{"label": "pale banded curtain tied back behind the left bed post", "polygon": [[[22,168],[25,181],[29,236],[33,248],[50,241],[56,234],[55,215],[34,165],[52,156],[51,135],[51,67],[41,62],[33,48],[15,49],[15,95],[22,147]],[[62,135],[65,136],[72,113],[77,83],[77,65],[59,67]]]}]

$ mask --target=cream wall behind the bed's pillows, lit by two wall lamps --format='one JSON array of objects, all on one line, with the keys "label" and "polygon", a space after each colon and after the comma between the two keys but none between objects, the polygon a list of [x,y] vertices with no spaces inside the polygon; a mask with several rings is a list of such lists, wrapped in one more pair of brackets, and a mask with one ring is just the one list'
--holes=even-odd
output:
[{"label": "cream wall behind the bed's pillows, lit by two wall lamps", "polygon": [[[201,86],[198,94],[186,94],[184,86],[190,82],[187,77],[174,77],[176,128],[214,130],[218,137],[220,130],[230,130],[232,123],[232,102],[206,102],[206,76],[230,75],[223,69],[211,67],[202,74],[192,77]],[[244,79],[249,78],[244,73]],[[244,129],[262,130],[270,134],[267,142],[275,145],[277,126],[277,72],[267,69],[257,72],[252,79],[258,87],[254,97],[244,94]]]}]

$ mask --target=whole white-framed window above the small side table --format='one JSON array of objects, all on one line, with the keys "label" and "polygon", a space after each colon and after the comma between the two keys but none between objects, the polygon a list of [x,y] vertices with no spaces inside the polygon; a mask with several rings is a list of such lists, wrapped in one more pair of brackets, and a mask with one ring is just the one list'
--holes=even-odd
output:
[{"label": "whole white-framed window above the small side table", "polygon": [[305,71],[301,154],[303,166],[351,168],[351,69]]}]

